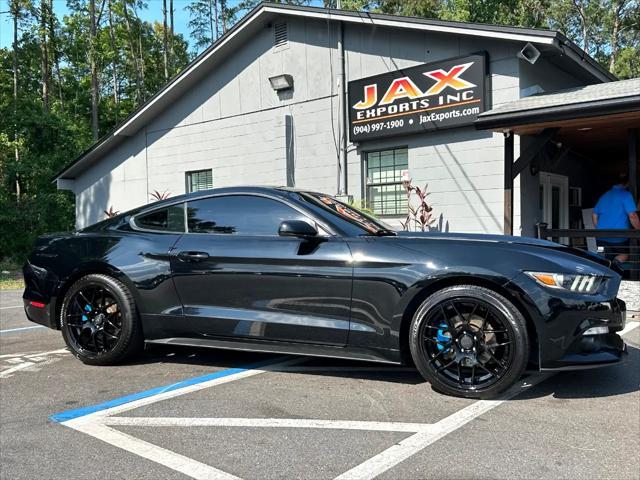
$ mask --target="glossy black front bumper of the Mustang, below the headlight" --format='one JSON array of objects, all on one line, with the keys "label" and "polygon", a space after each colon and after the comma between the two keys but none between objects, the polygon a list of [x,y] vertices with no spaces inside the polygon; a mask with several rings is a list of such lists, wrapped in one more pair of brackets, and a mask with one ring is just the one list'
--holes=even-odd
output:
[{"label": "glossy black front bumper of the Mustang, below the headlight", "polygon": [[[540,370],[580,370],[625,360],[627,346],[616,333],[626,322],[626,305],[615,297],[618,283],[612,281],[602,294],[577,295],[540,287],[526,276],[511,282],[535,324]],[[607,333],[585,335],[594,327],[605,327]]]}]

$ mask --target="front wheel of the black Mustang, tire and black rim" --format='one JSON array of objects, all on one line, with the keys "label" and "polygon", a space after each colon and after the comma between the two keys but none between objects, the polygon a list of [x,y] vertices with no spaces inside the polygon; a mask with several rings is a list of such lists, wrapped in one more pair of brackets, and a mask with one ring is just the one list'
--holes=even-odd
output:
[{"label": "front wheel of the black Mustang, tire and black rim", "polygon": [[505,297],[476,285],[429,296],[409,328],[411,357],[434,390],[494,398],[513,385],[529,359],[526,321]]}]

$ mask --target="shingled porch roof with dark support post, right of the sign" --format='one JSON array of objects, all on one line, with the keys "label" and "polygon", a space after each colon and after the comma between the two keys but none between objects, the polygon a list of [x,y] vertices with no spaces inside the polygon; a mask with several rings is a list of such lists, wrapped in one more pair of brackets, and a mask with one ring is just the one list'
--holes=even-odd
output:
[{"label": "shingled porch roof with dark support post, right of the sign", "polygon": [[[560,161],[569,149],[604,159],[622,156],[626,150],[631,190],[638,191],[640,78],[521,98],[482,113],[475,126],[505,134],[506,234],[513,234],[513,180],[549,142],[559,147],[554,161]],[[533,140],[517,159],[514,134]]]}]

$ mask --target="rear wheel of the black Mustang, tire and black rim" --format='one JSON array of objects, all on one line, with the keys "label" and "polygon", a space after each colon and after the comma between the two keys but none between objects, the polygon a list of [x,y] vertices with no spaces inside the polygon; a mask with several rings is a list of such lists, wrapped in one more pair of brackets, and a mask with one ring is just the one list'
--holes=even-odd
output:
[{"label": "rear wheel of the black Mustang, tire and black rim", "polygon": [[144,343],[133,295],[108,275],[87,275],[69,288],[60,308],[60,329],[71,353],[87,365],[121,363]]}]

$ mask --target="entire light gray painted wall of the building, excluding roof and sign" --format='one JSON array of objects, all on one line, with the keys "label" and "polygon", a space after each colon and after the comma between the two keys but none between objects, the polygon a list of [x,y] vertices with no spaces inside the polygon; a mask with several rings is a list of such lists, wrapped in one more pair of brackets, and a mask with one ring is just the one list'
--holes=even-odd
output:
[{"label": "entire light gray painted wall of the building, excluding roof and sign", "polygon": [[[185,172],[191,170],[212,168],[215,187],[286,185],[287,115],[293,119],[296,187],[337,193],[337,27],[312,19],[286,22],[284,48],[273,47],[272,29],[261,29],[146,129],[76,179],[77,226],[102,219],[110,205],[124,211],[148,203],[153,190],[184,193]],[[518,43],[346,25],[344,44],[347,79],[486,50],[493,106],[519,98],[524,85]],[[268,79],[282,73],[293,76],[295,87],[278,94]],[[537,81],[525,74],[526,82]],[[361,197],[363,154],[396,146],[409,147],[414,183],[429,184],[434,213],[451,231],[502,232],[502,135],[464,127],[350,144],[350,195]],[[515,198],[518,207],[519,190]],[[516,217],[519,228],[519,208]],[[398,225],[398,218],[390,220]]]}]

